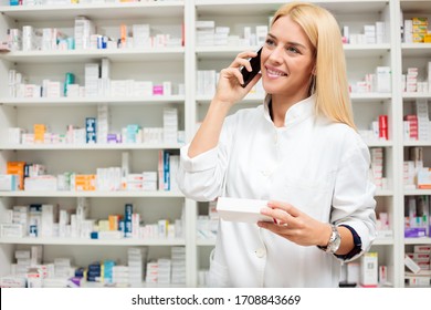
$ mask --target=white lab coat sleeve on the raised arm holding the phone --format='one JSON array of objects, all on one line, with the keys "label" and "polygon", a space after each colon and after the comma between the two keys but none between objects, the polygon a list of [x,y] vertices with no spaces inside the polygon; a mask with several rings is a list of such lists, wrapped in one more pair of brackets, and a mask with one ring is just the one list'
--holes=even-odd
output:
[{"label": "white lab coat sleeve on the raised arm holding the phone", "polygon": [[211,202],[223,193],[232,130],[224,122],[219,144],[198,156],[188,156],[190,144],[180,149],[177,182],[186,197],[198,202]]}]

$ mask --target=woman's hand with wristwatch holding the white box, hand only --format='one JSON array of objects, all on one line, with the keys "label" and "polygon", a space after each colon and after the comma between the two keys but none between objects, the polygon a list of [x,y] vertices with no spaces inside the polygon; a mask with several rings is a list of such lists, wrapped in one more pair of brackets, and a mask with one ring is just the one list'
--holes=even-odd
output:
[{"label": "woman's hand with wristwatch holding the white box, hand only", "polygon": [[302,213],[287,203],[269,202],[261,214],[274,218],[275,223],[259,221],[257,226],[299,246],[326,245],[330,236],[330,226]]}]

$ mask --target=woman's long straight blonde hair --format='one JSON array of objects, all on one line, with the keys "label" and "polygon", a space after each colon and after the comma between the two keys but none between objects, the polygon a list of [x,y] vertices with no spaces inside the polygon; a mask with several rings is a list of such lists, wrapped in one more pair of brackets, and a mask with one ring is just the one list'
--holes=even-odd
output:
[{"label": "woman's long straight blonde hair", "polygon": [[275,12],[272,24],[284,16],[302,27],[315,49],[315,81],[311,87],[316,95],[316,112],[356,128],[341,34],[334,16],[312,3],[290,2]]}]

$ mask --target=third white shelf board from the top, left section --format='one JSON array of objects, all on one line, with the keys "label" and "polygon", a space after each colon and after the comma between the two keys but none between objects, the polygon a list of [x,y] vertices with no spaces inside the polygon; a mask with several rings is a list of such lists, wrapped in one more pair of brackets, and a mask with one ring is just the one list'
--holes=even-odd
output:
[{"label": "third white shelf board from the top, left section", "polygon": [[88,106],[106,103],[109,105],[160,105],[183,104],[183,95],[154,95],[147,97],[3,97],[0,104],[12,106]]}]

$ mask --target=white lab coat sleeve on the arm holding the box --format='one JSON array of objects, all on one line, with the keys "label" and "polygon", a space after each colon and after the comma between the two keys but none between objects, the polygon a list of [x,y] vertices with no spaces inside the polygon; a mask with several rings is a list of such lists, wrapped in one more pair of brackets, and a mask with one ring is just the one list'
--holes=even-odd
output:
[{"label": "white lab coat sleeve on the arm holding the box", "polygon": [[355,140],[357,143],[345,149],[336,175],[330,216],[335,225],[354,228],[361,240],[361,251],[345,261],[361,256],[376,238],[376,186],[369,179],[370,155],[360,137]]}]

